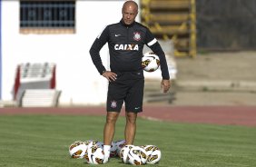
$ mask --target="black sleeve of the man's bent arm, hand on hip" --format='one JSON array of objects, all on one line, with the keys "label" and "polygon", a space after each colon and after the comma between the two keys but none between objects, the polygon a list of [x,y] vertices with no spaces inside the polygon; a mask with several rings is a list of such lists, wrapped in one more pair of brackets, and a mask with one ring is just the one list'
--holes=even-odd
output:
[{"label": "black sleeve of the man's bent arm, hand on hip", "polygon": [[94,41],[94,44],[91,46],[90,54],[93,60],[95,67],[97,68],[100,74],[106,70],[103,66],[103,62],[100,56],[100,51],[103,48],[103,45],[106,44],[108,41],[108,26],[105,27],[103,32],[97,36]]}]

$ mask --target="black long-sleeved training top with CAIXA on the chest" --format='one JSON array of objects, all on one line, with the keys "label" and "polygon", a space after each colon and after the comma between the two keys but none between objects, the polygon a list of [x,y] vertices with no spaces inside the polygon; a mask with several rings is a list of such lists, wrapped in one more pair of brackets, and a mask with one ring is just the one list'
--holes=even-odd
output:
[{"label": "black long-sleeved training top with CAIXA on the chest", "polygon": [[108,43],[110,68],[114,73],[142,71],[143,45],[151,48],[160,59],[162,79],[170,79],[165,54],[150,30],[137,22],[124,25],[123,20],[117,24],[107,25],[95,39],[90,54],[98,72],[106,70],[100,57],[100,50]]}]

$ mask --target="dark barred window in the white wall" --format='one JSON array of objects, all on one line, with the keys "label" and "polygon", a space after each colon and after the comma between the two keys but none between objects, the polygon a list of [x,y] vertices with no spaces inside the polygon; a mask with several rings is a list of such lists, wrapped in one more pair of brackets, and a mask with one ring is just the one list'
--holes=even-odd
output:
[{"label": "dark barred window in the white wall", "polygon": [[74,33],[74,0],[20,0],[21,33]]}]

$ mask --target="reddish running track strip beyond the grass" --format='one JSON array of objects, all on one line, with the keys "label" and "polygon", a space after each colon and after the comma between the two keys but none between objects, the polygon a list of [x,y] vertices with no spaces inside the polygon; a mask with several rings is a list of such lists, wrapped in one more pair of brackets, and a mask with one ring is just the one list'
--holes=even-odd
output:
[{"label": "reddish running track strip beyond the grass", "polygon": [[[0,114],[105,115],[104,107],[1,108]],[[121,115],[124,115],[122,111]],[[145,105],[140,117],[175,123],[212,123],[256,126],[256,106],[170,106]]]}]

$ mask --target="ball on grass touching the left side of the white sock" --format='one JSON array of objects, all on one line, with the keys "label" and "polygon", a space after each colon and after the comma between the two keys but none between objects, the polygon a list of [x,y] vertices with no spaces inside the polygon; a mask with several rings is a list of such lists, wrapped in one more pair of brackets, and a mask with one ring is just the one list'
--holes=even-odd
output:
[{"label": "ball on grass touching the left side of the white sock", "polygon": [[91,142],[88,145],[87,153],[84,159],[90,164],[103,164],[104,152],[97,142]]}]

